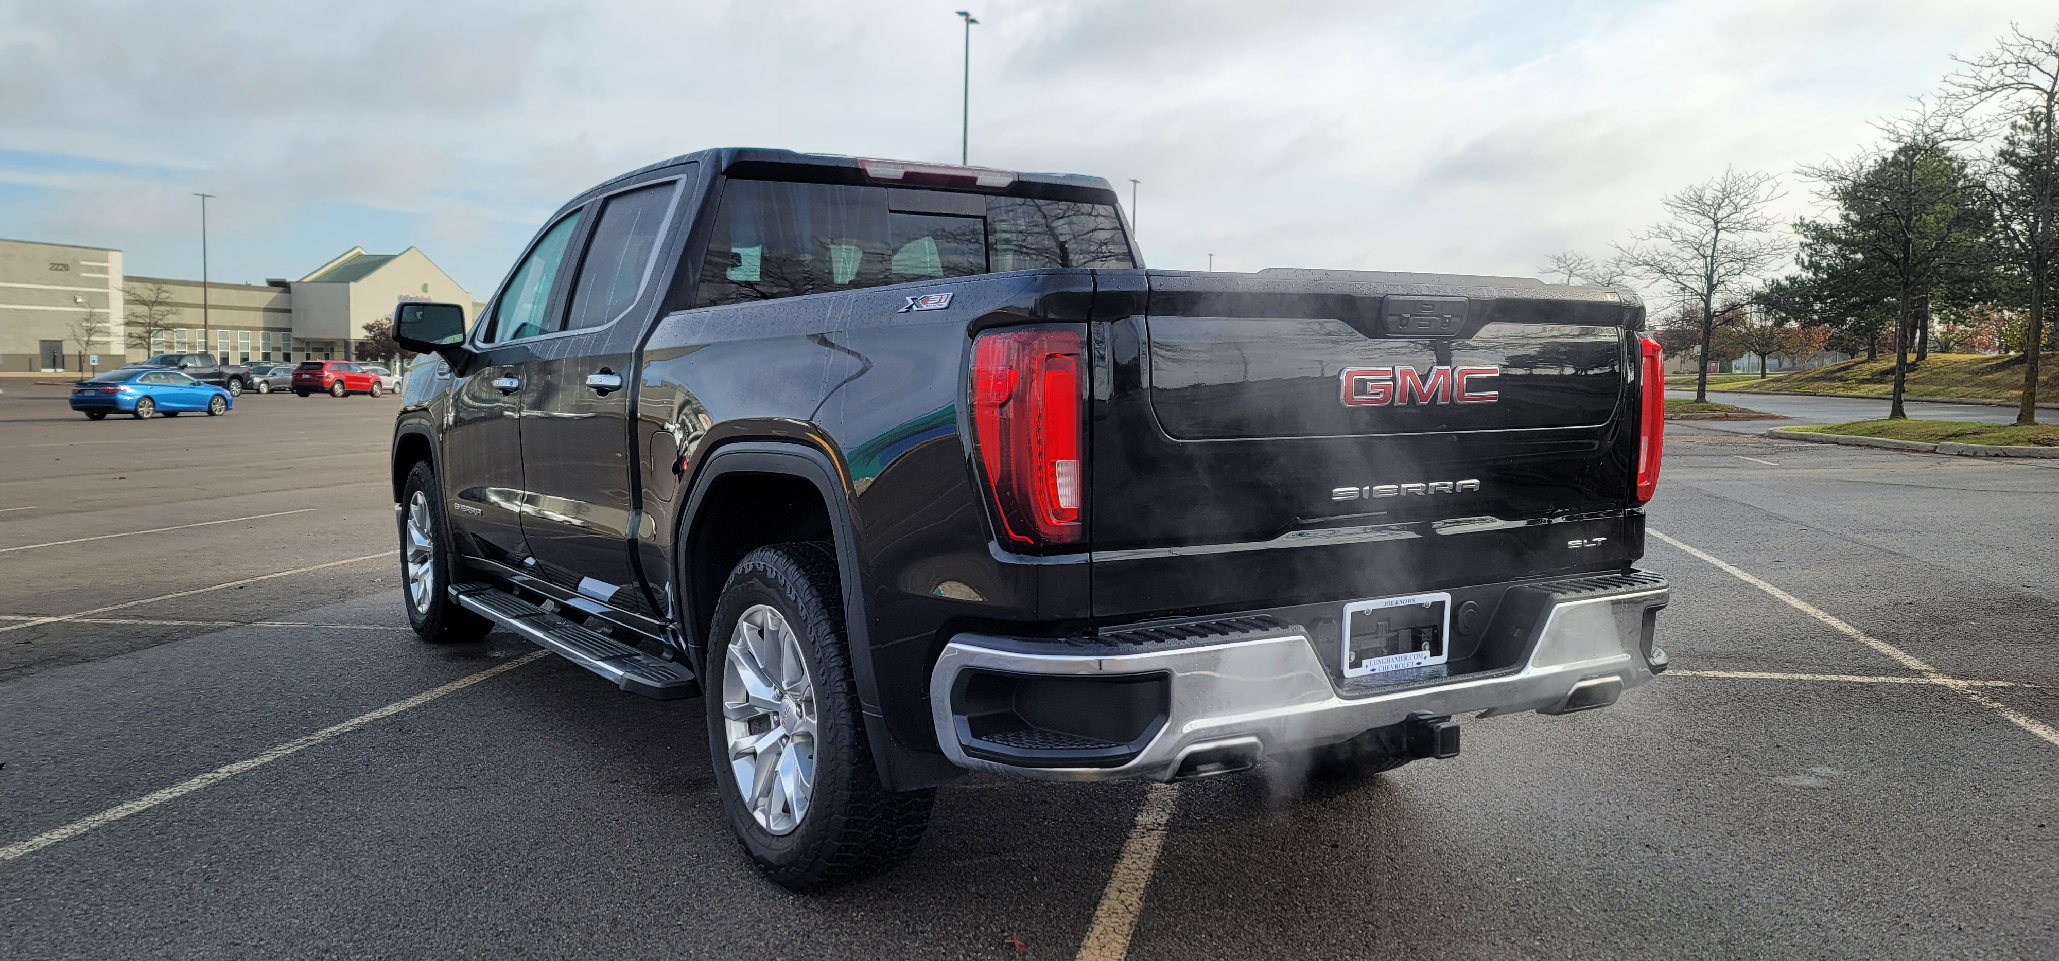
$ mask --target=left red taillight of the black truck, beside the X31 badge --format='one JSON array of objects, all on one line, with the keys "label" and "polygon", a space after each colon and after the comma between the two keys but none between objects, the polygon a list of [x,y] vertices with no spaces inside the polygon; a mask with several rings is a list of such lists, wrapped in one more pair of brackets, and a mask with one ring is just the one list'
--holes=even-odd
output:
[{"label": "left red taillight of the black truck, beside the X31 badge", "polygon": [[972,354],[972,430],[1011,543],[1079,543],[1085,500],[1075,329],[1017,327],[980,335]]}]

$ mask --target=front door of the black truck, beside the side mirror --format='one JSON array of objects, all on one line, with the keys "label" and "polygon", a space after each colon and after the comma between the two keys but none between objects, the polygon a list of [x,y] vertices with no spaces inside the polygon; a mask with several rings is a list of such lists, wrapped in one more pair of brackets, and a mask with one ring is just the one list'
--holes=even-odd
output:
[{"label": "front door of the black truck, beside the side mirror", "polygon": [[579,235],[574,210],[550,224],[474,327],[478,360],[451,387],[443,432],[445,517],[465,554],[523,564],[521,395],[533,379],[531,344],[562,302],[566,251]]}]

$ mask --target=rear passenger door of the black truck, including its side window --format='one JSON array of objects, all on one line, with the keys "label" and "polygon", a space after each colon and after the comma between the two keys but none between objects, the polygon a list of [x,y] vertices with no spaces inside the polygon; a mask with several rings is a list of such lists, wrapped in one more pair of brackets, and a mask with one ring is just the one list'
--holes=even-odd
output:
[{"label": "rear passenger door of the black truck, including its side window", "polygon": [[523,387],[523,535],[544,576],[595,601],[657,613],[630,562],[638,535],[630,436],[636,344],[663,296],[659,249],[682,177],[601,198],[558,331],[537,337]]}]

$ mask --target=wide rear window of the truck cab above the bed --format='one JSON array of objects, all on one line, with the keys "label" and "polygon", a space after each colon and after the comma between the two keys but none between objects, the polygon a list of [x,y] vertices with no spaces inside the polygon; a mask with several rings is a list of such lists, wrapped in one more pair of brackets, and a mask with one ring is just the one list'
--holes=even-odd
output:
[{"label": "wide rear window of the truck cab above the bed", "polygon": [[1114,204],[731,179],[696,307],[1040,268],[1132,268]]}]

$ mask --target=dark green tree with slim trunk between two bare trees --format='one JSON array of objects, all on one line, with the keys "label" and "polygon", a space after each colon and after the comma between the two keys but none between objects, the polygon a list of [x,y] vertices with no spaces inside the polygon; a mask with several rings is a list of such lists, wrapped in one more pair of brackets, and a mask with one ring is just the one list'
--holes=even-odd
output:
[{"label": "dark green tree with slim trunk between two bare trees", "polygon": [[1966,161],[1952,150],[1966,136],[1954,126],[1952,115],[1919,103],[1909,117],[1882,123],[1888,138],[1880,148],[1802,169],[1837,204],[1833,230],[1894,282],[1894,399],[1888,420],[1909,418],[1903,410],[1909,346],[1917,323],[1929,323],[1938,278],[1981,257],[1975,237],[1987,226],[1987,208]]}]

